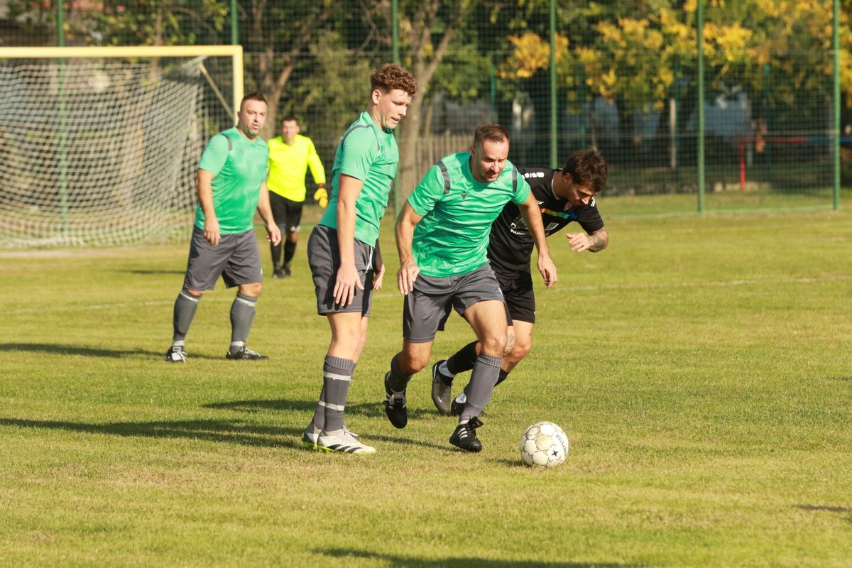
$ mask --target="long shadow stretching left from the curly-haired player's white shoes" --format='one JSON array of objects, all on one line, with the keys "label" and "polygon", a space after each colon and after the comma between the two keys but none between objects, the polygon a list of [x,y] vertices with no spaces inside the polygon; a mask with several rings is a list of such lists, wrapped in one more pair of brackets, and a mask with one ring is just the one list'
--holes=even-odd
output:
[{"label": "long shadow stretching left from the curly-haired player's white shoes", "polygon": [[110,434],[140,438],[187,438],[235,445],[291,448],[302,447],[302,430],[285,427],[244,425],[220,420],[178,422],[112,422],[89,424],[54,420],[0,418],[0,426],[48,428],[67,432]]}]

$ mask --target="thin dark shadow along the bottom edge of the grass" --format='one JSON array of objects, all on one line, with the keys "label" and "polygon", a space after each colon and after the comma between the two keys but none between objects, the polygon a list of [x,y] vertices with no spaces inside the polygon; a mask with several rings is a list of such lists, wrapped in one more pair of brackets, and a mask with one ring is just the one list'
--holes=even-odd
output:
[{"label": "thin dark shadow along the bottom edge of the grass", "polygon": [[625,568],[643,566],[642,564],[617,564],[613,562],[544,562],[540,560],[494,560],[457,556],[443,559],[420,559],[397,556],[395,554],[374,553],[353,548],[317,548],[315,553],[324,554],[345,563],[347,558],[382,560],[391,566],[404,568],[456,568],[456,566],[483,566],[483,568],[504,568],[504,566],[522,566],[524,568]]}]

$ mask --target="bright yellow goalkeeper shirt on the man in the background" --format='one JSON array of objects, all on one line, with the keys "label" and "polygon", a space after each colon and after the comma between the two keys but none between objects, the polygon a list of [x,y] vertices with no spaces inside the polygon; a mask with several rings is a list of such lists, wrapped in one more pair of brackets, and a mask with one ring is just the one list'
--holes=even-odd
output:
[{"label": "bright yellow goalkeeper shirt on the man in the background", "polygon": [[314,142],[308,136],[296,135],[292,146],[287,146],[280,136],[268,141],[269,176],[267,187],[291,201],[305,200],[305,174],[308,167],[314,182],[325,184],[325,170]]}]

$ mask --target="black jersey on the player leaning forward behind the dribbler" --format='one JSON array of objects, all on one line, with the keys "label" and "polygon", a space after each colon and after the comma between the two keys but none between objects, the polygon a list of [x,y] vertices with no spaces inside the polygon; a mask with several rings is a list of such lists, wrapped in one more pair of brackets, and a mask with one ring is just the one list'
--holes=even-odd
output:
[{"label": "black jersey on the player leaning forward behind the dribbler", "polygon": [[[595,198],[588,205],[572,207],[567,199],[557,198],[553,192],[553,175],[559,169],[518,168],[533,190],[544,221],[544,234],[550,237],[571,221],[577,221],[587,233],[603,228]],[[521,217],[521,209],[509,202],[491,226],[488,259],[501,273],[530,272],[530,257],[535,240]]]}]

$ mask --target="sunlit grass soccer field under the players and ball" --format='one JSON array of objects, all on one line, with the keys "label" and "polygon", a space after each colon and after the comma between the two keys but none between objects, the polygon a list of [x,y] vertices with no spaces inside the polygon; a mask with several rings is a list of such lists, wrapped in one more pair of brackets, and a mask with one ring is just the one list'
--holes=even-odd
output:
[{"label": "sunlit grass soccer field under the players and ball", "polygon": [[[0,565],[852,565],[852,214],[607,226],[597,255],[551,239],[560,280],[477,455],[427,372],[387,422],[392,286],[347,407],[377,454],[302,450],[329,337],[309,227],[265,283],[258,364],[223,359],[223,289],[187,364],[162,360],[186,243],[0,253]],[[453,316],[433,360],[469,337]],[[538,420],[571,439],[561,468],[520,464]]]}]

